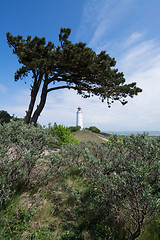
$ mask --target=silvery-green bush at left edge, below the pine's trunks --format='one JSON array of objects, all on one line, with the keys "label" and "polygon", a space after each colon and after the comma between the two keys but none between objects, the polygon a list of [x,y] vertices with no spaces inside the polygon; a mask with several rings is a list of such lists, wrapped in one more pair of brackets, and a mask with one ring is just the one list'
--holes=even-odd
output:
[{"label": "silvery-green bush at left edge, below the pine's trunks", "polygon": [[53,141],[40,125],[22,120],[0,125],[0,207],[29,183],[36,161]]}]

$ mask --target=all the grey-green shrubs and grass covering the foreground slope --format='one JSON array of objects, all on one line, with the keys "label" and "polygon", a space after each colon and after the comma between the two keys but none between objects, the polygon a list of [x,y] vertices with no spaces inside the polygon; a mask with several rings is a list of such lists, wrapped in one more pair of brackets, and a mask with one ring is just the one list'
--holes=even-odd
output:
[{"label": "all the grey-green shrubs and grass covering the foreground slope", "polygon": [[0,125],[0,239],[160,239],[160,138],[55,151],[53,129]]}]

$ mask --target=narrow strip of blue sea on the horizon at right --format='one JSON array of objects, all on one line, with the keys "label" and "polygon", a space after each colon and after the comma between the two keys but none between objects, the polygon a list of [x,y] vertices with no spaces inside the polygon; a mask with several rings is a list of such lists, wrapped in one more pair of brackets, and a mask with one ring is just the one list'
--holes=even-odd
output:
[{"label": "narrow strip of blue sea on the horizon at right", "polygon": [[149,136],[160,136],[160,131],[105,131],[109,134],[117,134],[119,136],[130,136],[131,134],[143,134],[148,133]]}]

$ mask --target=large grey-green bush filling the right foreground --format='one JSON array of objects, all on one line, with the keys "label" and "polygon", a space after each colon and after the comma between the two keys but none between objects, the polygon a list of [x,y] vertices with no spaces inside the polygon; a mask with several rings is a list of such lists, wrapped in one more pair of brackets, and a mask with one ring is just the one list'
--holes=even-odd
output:
[{"label": "large grey-green bush filling the right foreground", "polygon": [[[73,144],[61,149],[56,162],[51,158],[51,170],[75,199],[70,212],[75,232],[87,231],[90,239],[136,239],[148,221],[159,219],[159,143],[145,134],[112,136],[105,146]],[[81,177],[82,188],[67,185],[71,174]]]}]

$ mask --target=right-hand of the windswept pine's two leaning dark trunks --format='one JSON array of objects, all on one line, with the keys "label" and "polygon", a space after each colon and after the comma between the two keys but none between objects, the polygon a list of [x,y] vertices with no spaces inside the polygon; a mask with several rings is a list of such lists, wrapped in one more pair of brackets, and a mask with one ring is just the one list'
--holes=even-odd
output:
[{"label": "right-hand of the windswept pine's two leaning dark trunks", "polygon": [[42,93],[41,93],[41,99],[40,99],[40,103],[39,105],[37,105],[37,109],[35,110],[32,118],[31,118],[31,123],[36,124],[38,117],[40,116],[44,105],[46,103],[46,99],[47,99],[47,88],[48,88],[48,82],[47,79],[45,79],[44,84],[43,84],[43,88],[42,88]]}]

